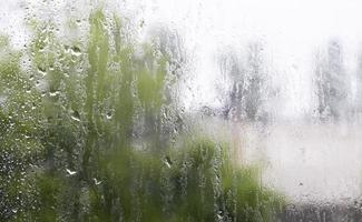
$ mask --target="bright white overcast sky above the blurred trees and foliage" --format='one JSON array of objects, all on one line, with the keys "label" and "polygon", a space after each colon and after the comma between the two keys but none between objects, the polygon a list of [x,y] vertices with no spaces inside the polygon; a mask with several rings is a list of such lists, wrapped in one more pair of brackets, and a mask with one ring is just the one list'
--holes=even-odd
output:
[{"label": "bright white overcast sky above the blurred trees and foliage", "polygon": [[[23,6],[33,1],[0,0],[0,29],[17,42],[25,39]],[[58,4],[75,0],[51,1]],[[80,2],[97,2],[82,0]],[[98,2],[101,2],[98,0]],[[267,65],[281,88],[282,117],[299,117],[311,108],[312,62],[317,47],[339,39],[344,47],[348,69],[354,70],[362,40],[360,0],[124,0],[109,1],[123,12],[170,27],[183,37],[192,57],[193,93],[186,104],[217,105],[215,88],[219,52],[243,50],[248,41],[263,41]],[[52,3],[50,3],[52,4]],[[49,6],[50,6],[49,4]],[[22,6],[22,7],[21,7]],[[79,3],[77,2],[77,6]],[[55,9],[51,9],[55,10]]]}]

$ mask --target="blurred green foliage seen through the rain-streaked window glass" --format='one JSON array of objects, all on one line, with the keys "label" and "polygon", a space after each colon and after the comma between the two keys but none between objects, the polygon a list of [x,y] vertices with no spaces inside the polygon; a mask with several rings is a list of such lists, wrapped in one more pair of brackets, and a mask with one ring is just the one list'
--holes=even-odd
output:
[{"label": "blurred green foliage seen through the rain-streaked window glass", "polygon": [[257,168],[227,143],[167,130],[169,54],[124,38],[102,10],[87,42],[33,27],[25,51],[0,39],[0,221],[275,220],[284,200]]}]

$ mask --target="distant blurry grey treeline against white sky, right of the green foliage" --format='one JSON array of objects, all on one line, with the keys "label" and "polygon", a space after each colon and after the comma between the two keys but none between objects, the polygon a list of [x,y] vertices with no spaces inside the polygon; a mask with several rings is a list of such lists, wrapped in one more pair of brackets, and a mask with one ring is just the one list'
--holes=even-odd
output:
[{"label": "distant blurry grey treeline against white sky, right of the green foliage", "polygon": [[[217,56],[223,105],[213,109],[213,114],[236,122],[263,124],[277,118],[274,115],[285,102],[283,97],[288,95],[283,94],[286,92],[273,83],[275,70],[264,48],[262,41],[252,41],[241,52],[231,49]],[[315,51],[311,58],[310,84],[313,92],[304,95],[309,99],[310,108],[301,111],[304,120],[322,123],[360,122],[361,56],[356,58],[356,70],[352,71],[346,69],[343,46],[339,40],[330,40]],[[290,73],[284,74],[286,77],[280,81],[287,79]]]}]

